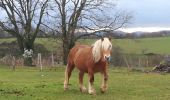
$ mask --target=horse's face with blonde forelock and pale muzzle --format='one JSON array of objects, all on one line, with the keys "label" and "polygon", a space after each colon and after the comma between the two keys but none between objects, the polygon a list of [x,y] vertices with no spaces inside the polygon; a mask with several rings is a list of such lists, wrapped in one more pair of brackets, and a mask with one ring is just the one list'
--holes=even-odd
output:
[{"label": "horse's face with blonde forelock and pale muzzle", "polygon": [[104,61],[110,61],[111,50],[112,50],[112,44],[110,42],[110,39],[104,38],[102,41],[102,52],[103,52]]}]

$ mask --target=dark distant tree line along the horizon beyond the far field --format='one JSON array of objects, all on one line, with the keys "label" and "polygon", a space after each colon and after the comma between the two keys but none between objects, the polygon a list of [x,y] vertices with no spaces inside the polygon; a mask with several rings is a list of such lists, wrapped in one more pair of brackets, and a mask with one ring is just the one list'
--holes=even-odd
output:
[{"label": "dark distant tree line along the horizon beyond the far field", "polygon": [[[82,34],[86,34],[84,32],[77,32],[75,33],[76,36],[79,36],[79,35],[82,35]],[[90,33],[89,33],[90,34]],[[168,37],[170,36],[170,31],[159,31],[159,32],[133,32],[133,33],[125,33],[125,32],[122,32],[122,31],[114,31],[114,32],[105,32],[105,33],[100,33],[98,32],[98,35],[101,35],[101,36],[110,36],[110,37],[113,37],[115,39],[122,39],[122,38],[130,38],[130,39],[133,39],[133,38],[152,38],[152,37]],[[39,38],[47,38],[47,37],[59,37],[60,34],[57,34],[57,33],[54,33],[54,32],[51,32],[49,31],[48,33],[44,33],[44,31],[40,31],[38,34],[37,34],[37,37]],[[2,31],[0,29],[0,38],[14,38],[14,36],[12,36],[11,34],[8,34],[4,31]],[[82,37],[83,39],[86,39],[86,38],[98,38],[98,36],[96,35],[91,35],[91,36],[84,36]]]}]

